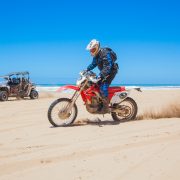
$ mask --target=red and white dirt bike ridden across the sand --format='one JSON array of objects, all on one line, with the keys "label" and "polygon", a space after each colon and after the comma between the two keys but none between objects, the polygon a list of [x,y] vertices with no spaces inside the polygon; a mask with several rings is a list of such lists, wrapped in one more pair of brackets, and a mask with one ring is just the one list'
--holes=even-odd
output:
[{"label": "red and white dirt bike ridden across the sand", "polygon": [[[48,110],[48,119],[53,126],[67,126],[72,124],[78,113],[76,100],[81,96],[86,109],[92,114],[104,114],[103,101],[98,85],[99,79],[92,71],[80,72],[77,86],[63,86],[58,91],[74,90],[71,99],[60,98],[54,101]],[[136,89],[140,90],[140,89]],[[109,112],[115,121],[128,121],[136,118],[137,104],[130,98],[129,90],[125,87],[109,87]]]}]

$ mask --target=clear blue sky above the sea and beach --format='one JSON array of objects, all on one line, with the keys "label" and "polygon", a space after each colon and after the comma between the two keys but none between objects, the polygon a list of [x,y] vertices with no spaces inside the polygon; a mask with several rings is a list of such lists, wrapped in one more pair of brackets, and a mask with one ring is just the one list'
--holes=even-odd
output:
[{"label": "clear blue sky above the sea and beach", "polygon": [[179,9],[178,0],[1,1],[0,74],[73,83],[96,38],[118,55],[114,83],[180,84]]}]

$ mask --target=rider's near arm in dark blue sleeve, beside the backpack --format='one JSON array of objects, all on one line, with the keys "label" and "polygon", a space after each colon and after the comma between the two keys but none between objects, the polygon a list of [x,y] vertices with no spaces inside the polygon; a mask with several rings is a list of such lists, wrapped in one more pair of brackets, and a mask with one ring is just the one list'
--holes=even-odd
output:
[{"label": "rider's near arm in dark blue sleeve, beside the backpack", "polygon": [[100,76],[102,78],[108,76],[111,72],[112,66],[113,66],[113,61],[111,59],[110,53],[108,52],[106,56],[103,57],[103,69],[100,72]]}]

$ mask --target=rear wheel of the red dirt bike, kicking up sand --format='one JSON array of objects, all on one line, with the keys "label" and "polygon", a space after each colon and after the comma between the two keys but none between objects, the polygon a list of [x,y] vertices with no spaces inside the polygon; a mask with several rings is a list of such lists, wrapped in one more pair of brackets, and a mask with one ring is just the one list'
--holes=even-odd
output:
[{"label": "rear wheel of the red dirt bike, kicking up sand", "polygon": [[115,109],[117,111],[111,113],[111,116],[115,121],[134,120],[138,111],[136,102],[130,97],[127,97],[120,104],[115,105]]}]

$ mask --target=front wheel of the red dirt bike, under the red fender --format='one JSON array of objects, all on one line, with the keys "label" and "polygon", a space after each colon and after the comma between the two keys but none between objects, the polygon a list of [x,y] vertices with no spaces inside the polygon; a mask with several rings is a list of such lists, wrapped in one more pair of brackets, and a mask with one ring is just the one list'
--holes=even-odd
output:
[{"label": "front wheel of the red dirt bike, under the red fender", "polygon": [[67,107],[70,105],[71,100],[61,98],[54,101],[48,110],[49,122],[55,126],[68,126],[74,122],[77,117],[77,106],[74,104],[71,111],[67,113]]}]

